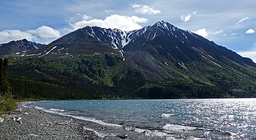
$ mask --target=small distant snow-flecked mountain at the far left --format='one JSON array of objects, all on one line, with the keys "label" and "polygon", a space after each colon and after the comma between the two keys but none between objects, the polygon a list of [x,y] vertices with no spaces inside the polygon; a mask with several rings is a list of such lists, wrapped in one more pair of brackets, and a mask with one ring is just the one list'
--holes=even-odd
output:
[{"label": "small distant snow-flecked mountain at the far left", "polygon": [[9,43],[0,44],[0,56],[24,55],[44,46],[45,44],[31,42],[26,39],[11,41]]}]

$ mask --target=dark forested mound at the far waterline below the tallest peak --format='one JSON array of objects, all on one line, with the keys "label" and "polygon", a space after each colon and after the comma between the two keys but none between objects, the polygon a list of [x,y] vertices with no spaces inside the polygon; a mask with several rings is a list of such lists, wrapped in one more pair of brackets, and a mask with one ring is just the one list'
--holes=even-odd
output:
[{"label": "dark forested mound at the far waterline below the tallest peak", "polygon": [[219,98],[227,93],[220,88],[206,84],[189,83],[186,81],[157,83],[141,87],[137,94],[142,98]]}]

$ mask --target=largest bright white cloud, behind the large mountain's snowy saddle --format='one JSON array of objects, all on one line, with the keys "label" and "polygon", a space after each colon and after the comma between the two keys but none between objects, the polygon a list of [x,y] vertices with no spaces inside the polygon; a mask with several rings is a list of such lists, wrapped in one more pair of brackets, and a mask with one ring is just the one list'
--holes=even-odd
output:
[{"label": "largest bright white cloud, behind the large mountain's snowy saddle", "polygon": [[70,24],[73,30],[83,28],[85,26],[99,26],[101,28],[118,28],[124,31],[137,30],[142,28],[138,23],[148,22],[147,19],[137,16],[122,16],[113,14],[105,18],[105,20],[92,19],[92,20],[83,20]]}]

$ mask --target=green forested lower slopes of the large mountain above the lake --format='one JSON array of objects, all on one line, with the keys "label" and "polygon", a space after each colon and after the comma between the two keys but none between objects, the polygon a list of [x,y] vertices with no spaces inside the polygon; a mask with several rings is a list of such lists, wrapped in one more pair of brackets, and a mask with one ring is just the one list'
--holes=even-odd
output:
[{"label": "green forested lower slopes of the large mountain above the lake", "polygon": [[[91,100],[131,98],[223,98],[255,97],[252,70],[213,67],[198,62],[198,71],[188,71],[168,62],[163,79],[145,76],[141,69],[116,54],[78,57],[12,59],[11,90],[17,100]],[[186,63],[187,67],[194,66]],[[189,67],[192,70],[191,67]],[[247,77],[241,75],[248,72]],[[234,74],[238,73],[238,74]],[[250,72],[250,73],[249,73]]]}]

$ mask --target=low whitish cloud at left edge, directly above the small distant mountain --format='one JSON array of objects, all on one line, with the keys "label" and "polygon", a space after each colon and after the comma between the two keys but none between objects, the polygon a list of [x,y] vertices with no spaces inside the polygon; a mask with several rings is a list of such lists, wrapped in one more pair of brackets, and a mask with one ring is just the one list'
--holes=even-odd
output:
[{"label": "low whitish cloud at left edge, directly above the small distant mountain", "polygon": [[27,39],[32,40],[34,36],[32,34],[20,31],[20,30],[3,30],[0,32],[0,43],[7,43],[12,40]]}]

